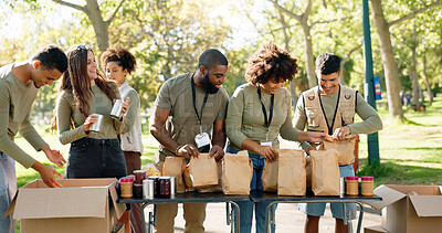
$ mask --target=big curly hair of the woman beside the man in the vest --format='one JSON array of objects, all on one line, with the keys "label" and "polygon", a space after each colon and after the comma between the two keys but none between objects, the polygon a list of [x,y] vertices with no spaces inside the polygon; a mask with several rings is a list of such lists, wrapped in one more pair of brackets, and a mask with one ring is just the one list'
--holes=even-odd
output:
[{"label": "big curly hair of the woman beside the man in the vest", "polygon": [[249,59],[245,81],[265,84],[273,77],[291,82],[297,73],[297,59],[273,42],[265,43]]}]

